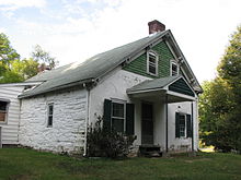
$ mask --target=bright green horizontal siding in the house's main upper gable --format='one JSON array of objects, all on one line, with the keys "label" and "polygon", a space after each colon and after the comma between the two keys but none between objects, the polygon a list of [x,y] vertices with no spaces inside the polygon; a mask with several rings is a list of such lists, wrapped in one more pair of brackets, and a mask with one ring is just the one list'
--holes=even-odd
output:
[{"label": "bright green horizontal siding in the house's main upper gable", "polygon": [[158,76],[147,73],[147,53],[139,56],[137,59],[125,65],[123,69],[129,72],[134,72],[139,75],[145,75],[152,79],[160,79],[170,75],[170,60],[174,59],[168,45],[164,41],[159,43],[151,50],[159,55],[158,62]]}]

